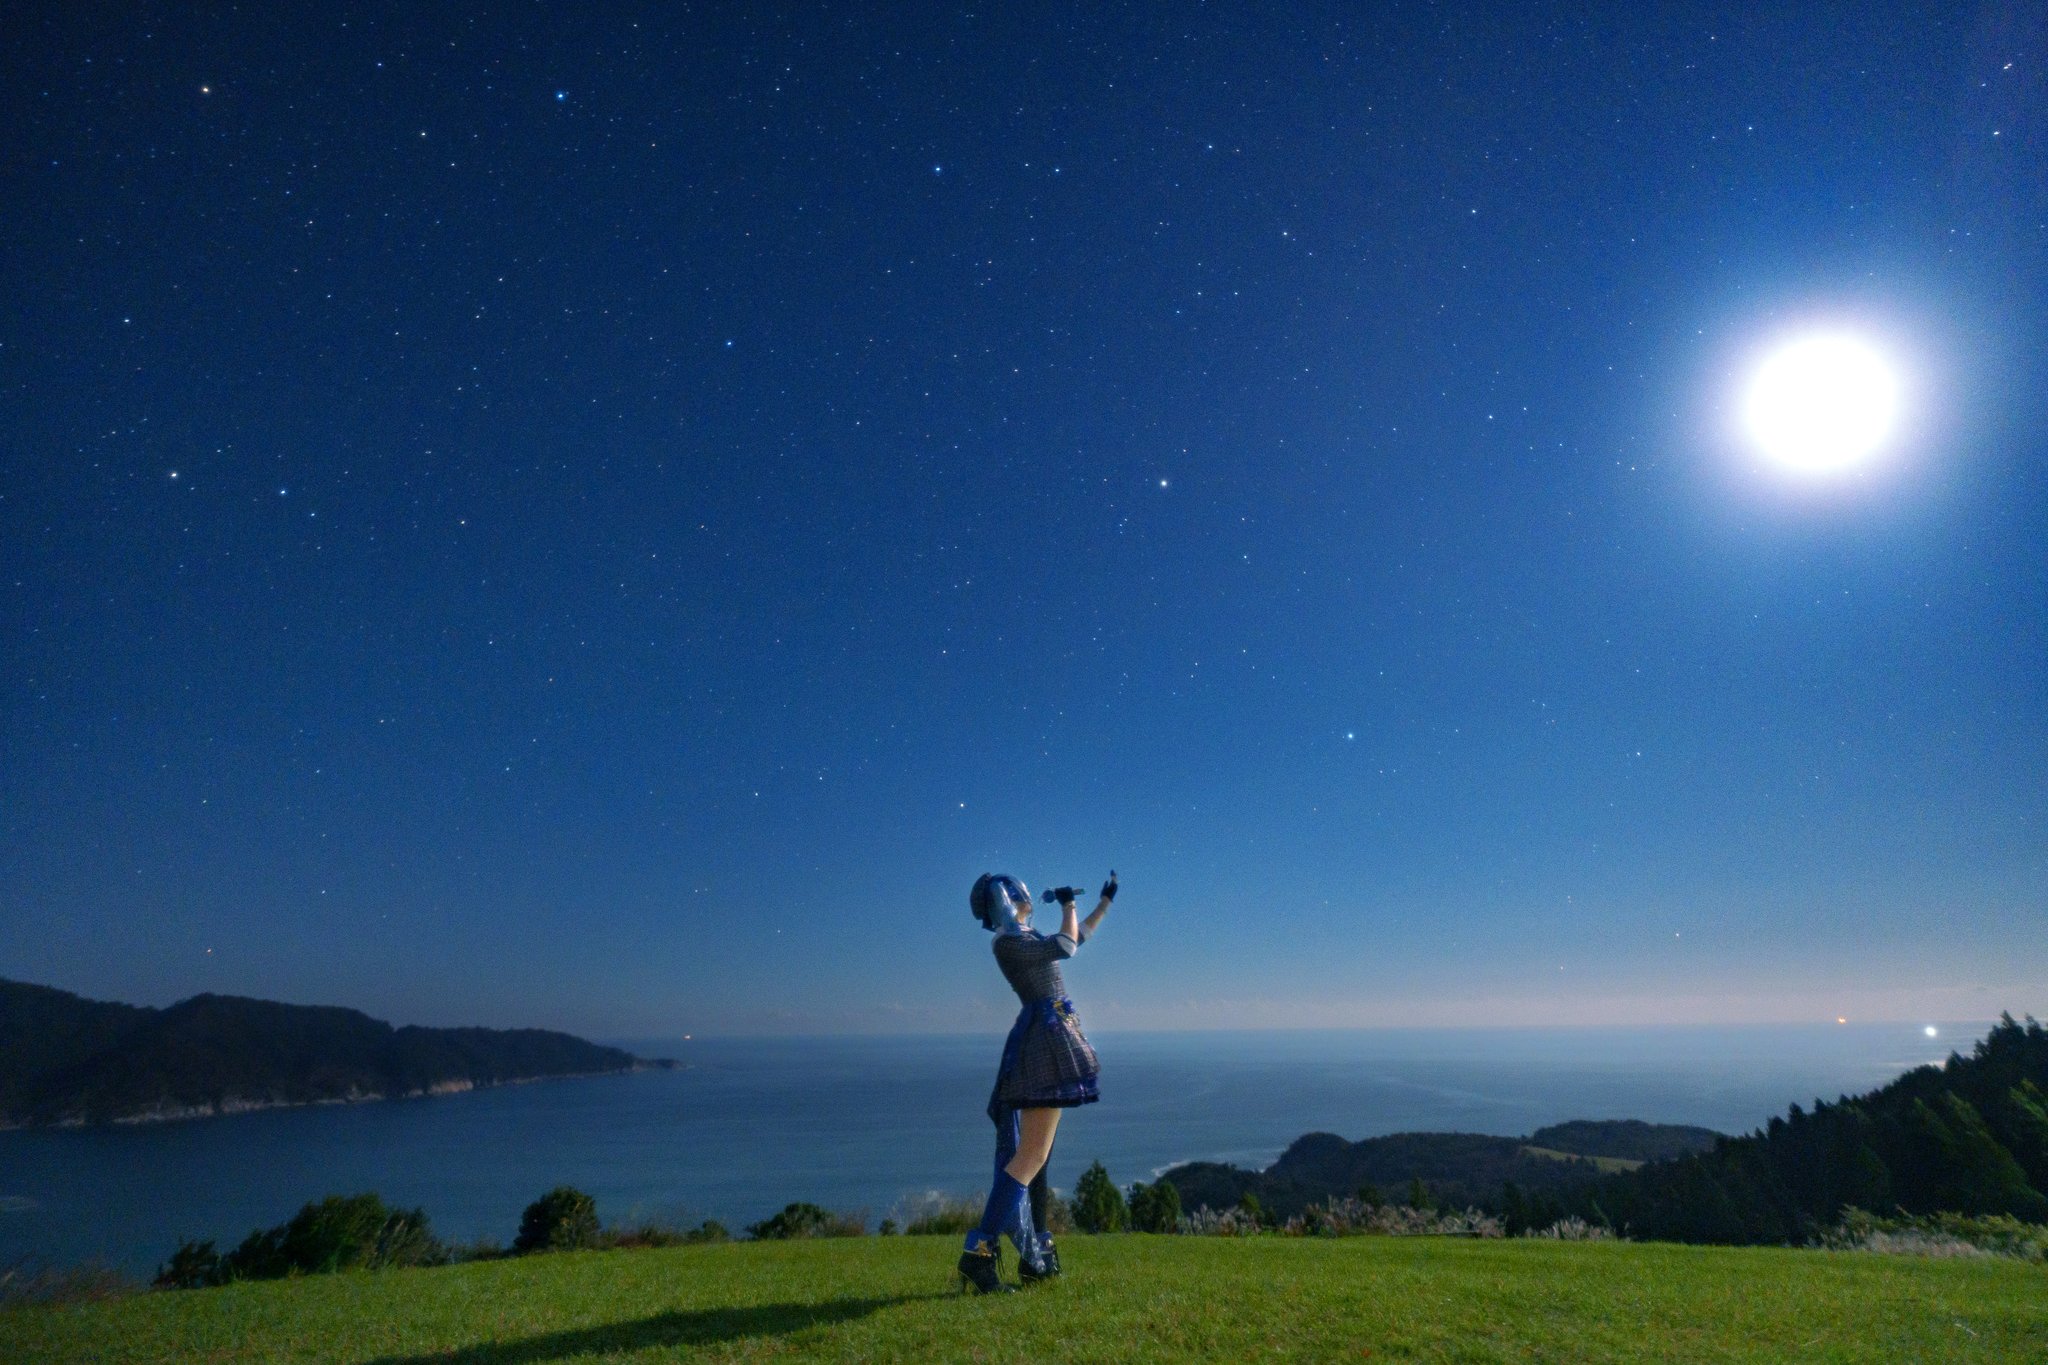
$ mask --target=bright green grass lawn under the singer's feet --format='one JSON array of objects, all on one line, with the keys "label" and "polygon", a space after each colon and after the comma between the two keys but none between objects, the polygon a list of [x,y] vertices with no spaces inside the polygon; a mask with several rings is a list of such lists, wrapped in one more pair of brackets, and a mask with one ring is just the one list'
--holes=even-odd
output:
[{"label": "bright green grass lawn under the singer's feet", "polygon": [[952,1238],[322,1275],[0,1314],[8,1361],[2048,1361],[2017,1261],[1446,1238],[1069,1236],[952,1291]]}]

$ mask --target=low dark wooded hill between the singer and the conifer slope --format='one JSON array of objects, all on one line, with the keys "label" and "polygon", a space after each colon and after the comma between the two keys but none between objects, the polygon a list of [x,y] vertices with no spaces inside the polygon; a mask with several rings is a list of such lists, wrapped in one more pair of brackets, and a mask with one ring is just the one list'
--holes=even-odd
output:
[{"label": "low dark wooded hill between the singer and the conifer slope", "polygon": [[1307,1134],[1264,1171],[1198,1160],[1174,1166],[1163,1179],[1174,1181],[1182,1205],[1190,1209],[1225,1209],[1251,1193],[1282,1218],[1329,1197],[1356,1195],[1364,1185],[1405,1197],[1417,1179],[1440,1203],[1489,1205],[1509,1181],[1532,1193],[1565,1191],[1591,1185],[1614,1169],[1614,1158],[1642,1162],[1706,1152],[1720,1138],[1708,1128],[1640,1119],[1579,1119],[1540,1128],[1528,1138],[1393,1134],[1348,1142],[1337,1134]]}]

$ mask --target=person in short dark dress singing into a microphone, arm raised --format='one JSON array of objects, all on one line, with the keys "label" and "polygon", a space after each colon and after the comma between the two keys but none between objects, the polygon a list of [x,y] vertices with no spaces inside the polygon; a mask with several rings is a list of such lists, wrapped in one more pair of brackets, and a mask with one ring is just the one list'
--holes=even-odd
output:
[{"label": "person in short dark dress singing into a microphone, arm raised", "polygon": [[1014,876],[983,874],[967,896],[975,919],[995,935],[995,966],[1024,1003],[989,1095],[995,1185],[981,1209],[981,1226],[967,1234],[967,1250],[961,1252],[961,1275],[979,1293],[1014,1287],[997,1275],[1004,1234],[1016,1242],[1024,1283],[1059,1275],[1059,1252],[1044,1218],[1051,1195],[1044,1164],[1053,1156],[1059,1111],[1098,1099],[1096,1050],[1081,1038],[1081,1021],[1059,978],[1059,960],[1071,958],[1110,913],[1116,874],[1102,884],[1102,900],[1085,921],[1073,909],[1077,894],[1071,886],[1044,894],[1049,902],[1059,902],[1059,933],[1053,935],[1030,927],[1030,890]]}]

